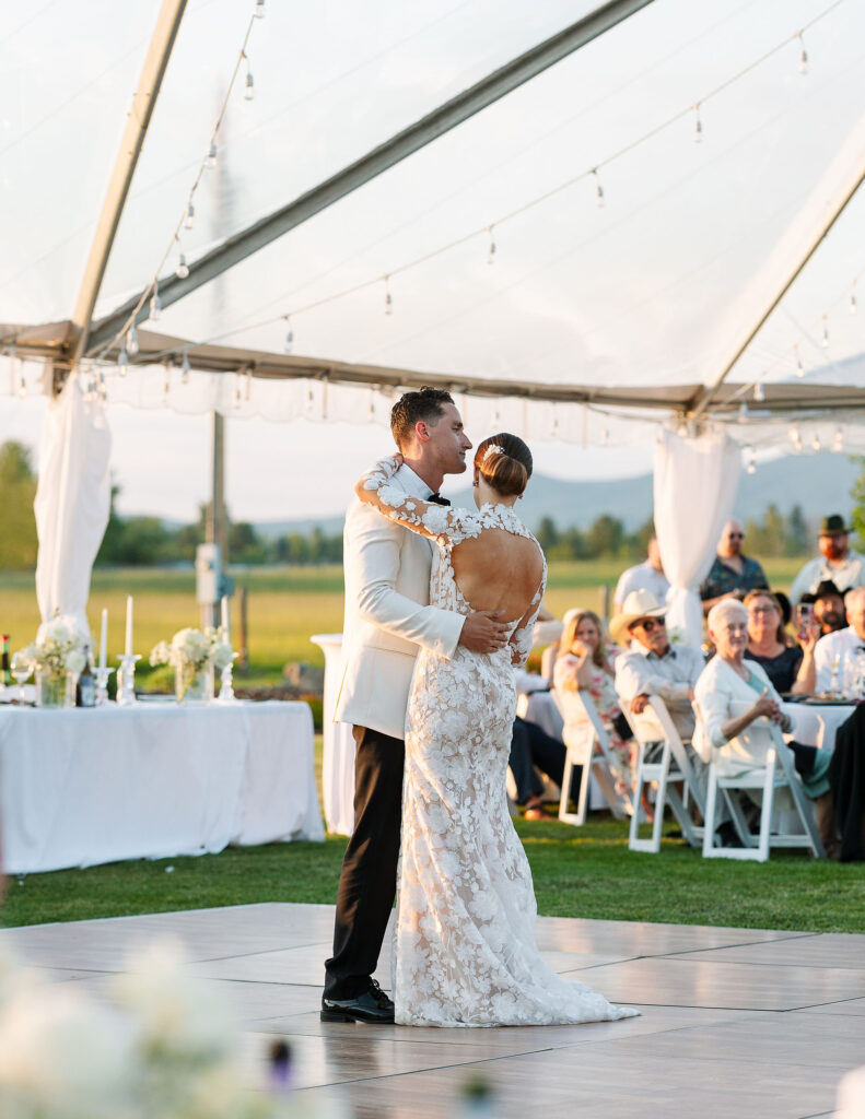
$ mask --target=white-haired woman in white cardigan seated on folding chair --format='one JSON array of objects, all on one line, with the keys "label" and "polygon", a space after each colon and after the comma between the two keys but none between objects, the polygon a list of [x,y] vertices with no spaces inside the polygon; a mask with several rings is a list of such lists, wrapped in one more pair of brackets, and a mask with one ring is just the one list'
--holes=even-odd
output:
[{"label": "white-haired woman in white cardigan seated on folding chair", "polygon": [[[715,656],[706,665],[695,690],[699,714],[694,749],[708,763],[714,761],[719,777],[740,777],[763,769],[766,752],[775,741],[771,724],[789,733],[793,721],[781,706],[781,697],[763,668],[746,661],[748,612],[741,602],[727,599],[709,611],[709,636]],[[828,750],[790,744],[797,772],[808,797],[817,801],[817,826],[824,844],[834,838]]]}]

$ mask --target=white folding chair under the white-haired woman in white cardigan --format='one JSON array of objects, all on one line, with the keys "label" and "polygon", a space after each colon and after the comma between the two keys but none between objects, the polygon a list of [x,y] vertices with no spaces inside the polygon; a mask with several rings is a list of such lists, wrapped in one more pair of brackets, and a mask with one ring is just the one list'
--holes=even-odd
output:
[{"label": "white folding chair under the white-haired woman in white cardigan", "polygon": [[[770,847],[810,847],[817,858],[826,858],[826,850],[817,830],[813,810],[796,772],[793,755],[781,737],[778,726],[772,725],[773,747],[766,752],[764,769],[750,770],[738,777],[720,777],[717,765],[709,764],[709,788],[706,797],[706,828],[703,834],[704,858],[740,858],[765,863]],[[776,789],[789,789],[796,815],[802,825],[801,831],[772,833],[772,808]],[[715,811],[718,790],[729,809],[741,847],[715,846]],[[760,807],[760,831],[755,836],[747,825],[736,793],[760,790],[763,800]]]}]

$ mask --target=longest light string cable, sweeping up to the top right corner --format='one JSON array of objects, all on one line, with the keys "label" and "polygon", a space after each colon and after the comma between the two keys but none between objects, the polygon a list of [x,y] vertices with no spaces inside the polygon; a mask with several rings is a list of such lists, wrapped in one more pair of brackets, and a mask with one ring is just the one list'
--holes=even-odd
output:
[{"label": "longest light string cable, sweeping up to the top right corner", "polygon": [[[736,83],[741,78],[745,77],[752,70],[756,69],[759,66],[761,66],[768,59],[772,58],[779,51],[783,50],[785,47],[789,47],[791,43],[794,43],[797,39],[800,39],[801,36],[802,36],[802,34],[804,31],[807,31],[809,28],[812,28],[815,25],[817,25],[818,22],[820,22],[822,19],[825,19],[827,16],[829,16],[836,8],[839,8],[844,2],[845,2],[845,0],[834,0],[833,3],[830,3],[828,7],[824,8],[820,12],[818,12],[811,20],[809,20],[809,22],[802,25],[799,29],[797,29],[791,35],[787,35],[774,47],[771,47],[769,50],[766,50],[763,54],[761,54],[757,58],[754,58],[746,66],[742,67],[742,69],[740,69],[740,70],[735,72],[734,74],[732,74],[724,82],[719,83],[718,85],[714,86],[711,90],[709,90],[708,92],[706,92],[705,94],[703,94],[703,96],[697,97],[697,98],[690,98],[688,101],[687,107],[685,107],[685,109],[678,111],[677,113],[672,114],[671,116],[667,117],[666,120],[663,120],[659,124],[657,124],[653,128],[651,128],[649,131],[644,132],[642,135],[638,137],[636,139],[630,141],[626,144],[624,144],[622,148],[618,148],[616,151],[614,151],[613,153],[611,153],[610,156],[607,156],[605,159],[599,160],[599,161],[593,163],[592,167],[587,168],[586,170],[580,171],[578,175],[571,176],[570,178],[566,179],[565,181],[558,184],[556,187],[552,187],[549,190],[546,190],[543,194],[538,195],[536,198],[530,199],[529,201],[527,201],[527,203],[522,204],[521,206],[517,207],[515,209],[510,210],[506,214],[503,214],[502,216],[495,218],[492,222],[485,222],[482,226],[477,226],[476,228],[472,229],[469,233],[465,233],[465,234],[463,234],[459,237],[455,237],[453,241],[449,241],[449,242],[447,242],[447,243],[445,243],[445,244],[443,244],[443,245],[440,245],[440,246],[438,246],[436,248],[432,248],[429,252],[422,253],[421,255],[419,255],[417,257],[413,257],[412,260],[409,260],[409,261],[407,261],[407,262],[404,262],[404,263],[402,263],[400,265],[397,265],[396,267],[391,267],[385,273],[380,273],[380,274],[378,274],[375,276],[372,276],[372,278],[370,278],[368,280],[363,280],[363,281],[361,281],[361,282],[359,282],[356,284],[352,284],[352,285],[350,285],[347,288],[343,288],[340,291],[333,292],[329,295],[324,295],[320,299],[313,300],[309,303],[303,304],[301,307],[291,308],[289,311],[285,311],[285,312],[282,312],[280,314],[269,316],[268,318],[260,319],[260,320],[258,320],[255,322],[252,322],[252,323],[249,323],[247,326],[239,327],[239,328],[235,328],[235,329],[232,329],[232,330],[226,330],[226,331],[223,331],[223,332],[221,332],[218,335],[213,335],[213,336],[208,337],[207,339],[205,339],[204,341],[199,342],[198,345],[208,345],[211,342],[222,341],[223,339],[231,338],[234,335],[244,333],[248,330],[257,330],[257,329],[260,329],[261,327],[266,327],[266,326],[271,326],[271,325],[273,325],[276,322],[279,322],[281,320],[288,321],[289,319],[294,319],[298,314],[303,314],[303,313],[305,313],[307,311],[315,310],[315,309],[317,309],[319,307],[323,307],[323,305],[325,305],[327,303],[332,303],[332,302],[336,302],[337,300],[345,299],[345,298],[347,298],[350,295],[356,294],[357,292],[365,291],[369,288],[381,285],[382,283],[385,282],[385,278],[387,279],[392,279],[396,275],[401,275],[402,273],[408,272],[411,269],[418,267],[419,265],[425,264],[425,263],[427,263],[430,260],[434,260],[434,258],[436,258],[438,256],[441,256],[441,255],[444,255],[444,254],[446,254],[448,252],[452,252],[454,248],[457,248],[457,247],[459,247],[462,245],[467,244],[469,241],[473,241],[474,238],[476,238],[478,236],[483,236],[485,238],[489,238],[489,231],[490,231],[491,226],[499,227],[499,226],[503,225],[506,222],[513,220],[514,218],[517,218],[517,217],[525,214],[527,211],[536,208],[537,206],[542,205],[543,203],[546,203],[550,198],[559,195],[561,191],[567,190],[568,188],[573,187],[575,184],[577,184],[577,182],[579,182],[582,180],[589,179],[589,178],[597,178],[597,172],[602,168],[608,167],[610,164],[612,164],[616,160],[622,159],[625,154],[627,154],[629,152],[633,151],[634,149],[641,147],[642,144],[647,143],[649,140],[653,139],[659,133],[661,133],[661,132],[666,131],[667,129],[671,128],[673,124],[677,124],[682,119],[690,117],[692,115],[692,113],[694,113],[694,105],[695,104],[703,105],[706,102],[713,100],[714,97],[717,97],[718,95],[720,95],[723,92],[725,92],[726,90],[728,90],[734,83]],[[113,345],[113,342],[112,342],[112,345]],[[169,355],[176,354],[176,352],[179,352],[179,349],[174,348],[174,349],[164,350],[164,351],[160,351],[157,355],[149,355],[148,356],[148,360],[158,360],[159,358],[161,358],[164,356],[169,356]]]}]

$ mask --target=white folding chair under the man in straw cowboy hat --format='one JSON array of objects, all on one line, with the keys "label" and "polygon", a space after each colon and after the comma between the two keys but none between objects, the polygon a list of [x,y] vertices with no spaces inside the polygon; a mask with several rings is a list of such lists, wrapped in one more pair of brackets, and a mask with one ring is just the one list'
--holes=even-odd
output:
[{"label": "white folding chair under the man in straw cowboy hat", "polygon": [[[631,830],[627,837],[627,846],[631,850],[640,850],[652,855],[658,854],[661,849],[663,811],[666,806],[669,803],[685,838],[691,847],[699,847],[701,829],[691,819],[688,807],[673,786],[681,782],[685,787],[685,794],[688,798],[688,801],[694,802],[700,814],[705,817],[706,800],[703,794],[703,789],[697,780],[697,774],[691,765],[690,759],[688,758],[688,751],[685,743],[682,742],[679,732],[676,730],[676,724],[672,718],[670,718],[667,704],[660,698],[660,696],[651,696],[649,698],[648,706],[651,708],[655,721],[661,728],[661,736],[652,732],[651,727],[648,727],[644,721],[640,720],[639,716],[633,715],[630,711],[627,711],[627,705],[623,704],[625,718],[627,720],[631,730],[634,732],[634,737],[640,746],[640,754],[636,763],[633,814],[631,816]],[[654,758],[652,761],[648,761],[650,747],[657,746],[658,744],[661,745],[660,758]],[[641,839],[640,803],[642,801],[643,790],[647,786],[651,784],[655,787],[652,836],[651,839]]]}]

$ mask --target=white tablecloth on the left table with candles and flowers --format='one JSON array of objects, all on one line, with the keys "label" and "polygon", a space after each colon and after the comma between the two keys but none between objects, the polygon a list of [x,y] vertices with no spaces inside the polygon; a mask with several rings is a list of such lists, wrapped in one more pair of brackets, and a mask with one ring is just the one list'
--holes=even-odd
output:
[{"label": "white tablecloth on the left table with candles and flowers", "polygon": [[0,707],[10,874],[324,839],[304,703]]}]

